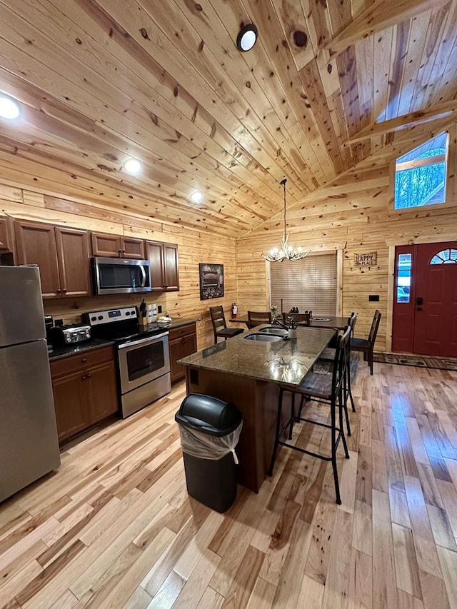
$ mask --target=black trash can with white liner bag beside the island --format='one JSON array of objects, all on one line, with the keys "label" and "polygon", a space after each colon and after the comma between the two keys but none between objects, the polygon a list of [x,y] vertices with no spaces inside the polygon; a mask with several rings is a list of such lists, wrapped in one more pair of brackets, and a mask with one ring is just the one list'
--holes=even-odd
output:
[{"label": "black trash can with white liner bag beside the island", "polygon": [[236,499],[240,411],[233,403],[190,393],[174,418],[181,434],[187,492],[209,508],[225,512]]}]

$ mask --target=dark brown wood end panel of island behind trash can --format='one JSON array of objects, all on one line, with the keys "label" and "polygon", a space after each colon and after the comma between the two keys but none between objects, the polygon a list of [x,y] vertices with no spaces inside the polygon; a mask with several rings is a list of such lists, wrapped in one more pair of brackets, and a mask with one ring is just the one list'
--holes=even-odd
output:
[{"label": "dark brown wood end panel of island behind trash can", "polygon": [[233,402],[243,415],[243,429],[236,448],[238,482],[258,493],[273,451],[278,387],[275,383],[186,366],[186,389]]}]

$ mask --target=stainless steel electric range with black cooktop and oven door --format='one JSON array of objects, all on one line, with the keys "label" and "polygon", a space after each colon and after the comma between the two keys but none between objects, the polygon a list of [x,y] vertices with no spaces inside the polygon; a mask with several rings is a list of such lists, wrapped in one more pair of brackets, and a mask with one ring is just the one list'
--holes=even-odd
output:
[{"label": "stainless steel electric range with black cooktop and oven door", "polygon": [[83,313],[94,338],[116,343],[121,414],[125,418],[171,391],[169,333],[140,326],[136,307]]}]

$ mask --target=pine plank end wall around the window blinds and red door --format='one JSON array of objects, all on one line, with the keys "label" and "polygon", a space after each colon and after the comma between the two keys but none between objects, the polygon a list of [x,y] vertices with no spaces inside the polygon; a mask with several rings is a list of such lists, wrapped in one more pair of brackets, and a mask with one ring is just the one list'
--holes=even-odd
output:
[{"label": "pine plank end wall around the window blinds and red door", "polygon": [[[338,178],[326,187],[325,196],[313,198],[297,210],[288,211],[288,232],[293,245],[311,251],[343,250],[341,311],[348,315],[358,312],[356,333],[368,336],[373,313],[379,308],[381,326],[376,351],[386,351],[386,333],[391,327],[391,296],[388,298],[389,248],[402,243],[426,243],[457,238],[457,200],[441,208],[393,212],[388,166],[368,171],[363,176]],[[241,314],[252,304],[263,308],[268,301],[268,265],[261,253],[278,245],[278,227],[266,225],[238,239],[236,269],[238,275],[238,306]],[[376,266],[358,268],[355,253],[377,253]],[[393,273],[393,271],[391,271]],[[368,301],[378,294],[379,302]],[[273,303],[279,304],[279,303]]]}]

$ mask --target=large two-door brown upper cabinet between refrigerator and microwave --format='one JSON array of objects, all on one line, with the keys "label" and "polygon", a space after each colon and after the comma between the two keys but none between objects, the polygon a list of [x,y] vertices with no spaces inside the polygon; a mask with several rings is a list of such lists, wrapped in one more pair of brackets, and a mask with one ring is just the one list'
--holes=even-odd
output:
[{"label": "large two-door brown upper cabinet between refrigerator and microwave", "polygon": [[24,221],[14,225],[18,262],[39,266],[43,298],[91,295],[86,231]]}]

